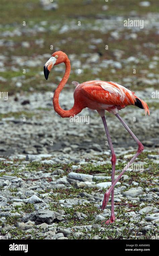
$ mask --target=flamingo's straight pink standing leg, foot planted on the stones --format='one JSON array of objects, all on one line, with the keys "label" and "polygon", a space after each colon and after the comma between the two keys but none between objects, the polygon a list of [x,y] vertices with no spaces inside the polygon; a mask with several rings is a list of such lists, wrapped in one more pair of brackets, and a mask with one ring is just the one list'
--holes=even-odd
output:
[{"label": "flamingo's straight pink standing leg, foot planted on the stones", "polygon": [[[107,135],[107,138],[108,138],[108,143],[109,143],[109,147],[110,147],[110,151],[111,151],[111,163],[112,163],[111,181],[112,181],[112,184],[113,184],[114,176],[115,176],[116,155],[115,155],[115,152],[114,152],[114,149],[113,149],[113,144],[112,144],[112,141],[111,141],[111,138],[110,138],[110,134],[109,134],[109,130],[108,130],[108,127],[107,127],[106,120],[105,120],[105,116],[102,117],[102,121],[103,121],[103,124],[104,124],[105,132],[106,132],[106,135]],[[107,200],[107,199],[104,198],[104,200],[103,200],[102,210],[104,210],[105,200]],[[109,200],[109,198],[108,198],[108,200]],[[109,220],[106,221],[106,224],[113,223],[114,221],[115,221],[115,215],[114,215],[114,189],[112,189],[112,192],[111,192],[111,217],[110,217]]]}]

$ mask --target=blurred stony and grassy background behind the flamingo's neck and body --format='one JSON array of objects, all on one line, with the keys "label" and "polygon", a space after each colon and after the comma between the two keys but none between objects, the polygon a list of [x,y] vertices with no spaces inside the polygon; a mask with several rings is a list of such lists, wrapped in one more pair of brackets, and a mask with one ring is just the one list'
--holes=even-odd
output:
[{"label": "blurred stony and grassy background behind the flamingo's neck and body", "polygon": [[[0,5],[0,91],[8,92],[8,100],[0,99],[1,156],[108,149],[96,112],[83,110],[89,125],[54,112],[50,96],[65,66],[54,67],[48,81],[43,66],[58,50],[71,62],[61,107],[73,105],[72,81],[117,82],[145,100],[151,113],[145,117],[144,110],[129,106],[119,114],[145,147],[159,147],[157,0],[1,0]],[[144,20],[144,28],[124,27],[127,19]],[[133,150],[135,142],[116,118],[106,113],[106,119],[114,146]]]}]

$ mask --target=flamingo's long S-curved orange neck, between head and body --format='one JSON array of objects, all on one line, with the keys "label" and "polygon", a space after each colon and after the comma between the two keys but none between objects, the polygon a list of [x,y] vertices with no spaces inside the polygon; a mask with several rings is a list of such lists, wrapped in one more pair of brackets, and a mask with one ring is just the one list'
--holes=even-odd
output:
[{"label": "flamingo's long S-curved orange neck, between head and body", "polygon": [[65,67],[66,67],[65,73],[64,73],[64,76],[63,76],[61,82],[59,83],[57,89],[55,90],[54,97],[53,97],[54,110],[62,118],[77,115],[82,110],[82,108],[80,106],[76,105],[75,102],[74,102],[73,107],[70,110],[64,110],[60,107],[59,95],[60,95],[60,92],[62,91],[63,87],[67,83],[67,80],[68,80],[68,77],[70,74],[70,70],[71,70],[70,61],[68,58],[66,59],[66,61],[64,63],[65,63]]}]

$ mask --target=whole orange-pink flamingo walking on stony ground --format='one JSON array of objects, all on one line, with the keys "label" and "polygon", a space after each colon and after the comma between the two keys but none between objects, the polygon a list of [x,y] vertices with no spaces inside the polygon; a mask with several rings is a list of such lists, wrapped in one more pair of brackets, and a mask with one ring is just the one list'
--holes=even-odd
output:
[{"label": "whole orange-pink flamingo walking on stony ground", "polygon": [[[126,171],[126,169],[129,167],[131,163],[139,156],[139,154],[144,150],[144,146],[139,141],[139,139],[134,135],[134,133],[129,129],[129,127],[125,124],[125,122],[121,119],[121,117],[118,114],[118,110],[126,107],[127,105],[135,105],[139,108],[145,109],[145,113],[150,115],[148,105],[143,100],[139,99],[134,92],[131,92],[130,90],[126,89],[125,87],[118,85],[113,82],[105,82],[105,81],[88,81],[84,82],[82,84],[78,84],[75,90],[74,90],[74,105],[70,110],[64,110],[59,105],[59,94],[62,91],[63,87],[65,86],[69,74],[70,74],[70,61],[67,57],[67,55],[61,51],[55,52],[52,54],[51,58],[46,62],[44,65],[44,75],[46,80],[48,79],[49,72],[51,71],[52,67],[54,65],[58,65],[60,63],[65,63],[65,74],[59,83],[57,89],[55,90],[54,97],[53,97],[53,105],[56,113],[58,113],[62,118],[64,117],[70,117],[77,115],[82,111],[83,108],[90,108],[93,110],[97,110],[99,115],[102,118],[105,132],[108,138],[108,143],[111,151],[111,163],[112,163],[112,185],[107,190],[107,192],[104,194],[103,204],[102,204],[102,210],[105,209],[109,196],[111,193],[111,217],[108,221],[106,221],[106,224],[113,223],[115,221],[115,215],[114,215],[114,187],[118,180],[121,178],[123,173]],[[125,127],[125,129],[128,131],[128,133],[133,137],[133,139],[138,144],[138,151],[133,156],[133,158],[127,163],[127,165],[124,167],[124,169],[119,174],[118,178],[114,180],[115,175],[115,163],[116,163],[116,156],[113,149],[112,141],[109,135],[107,123],[105,120],[105,110],[107,110],[109,113],[114,114],[118,120],[122,123],[122,125]]]}]

